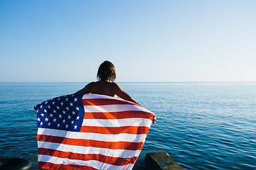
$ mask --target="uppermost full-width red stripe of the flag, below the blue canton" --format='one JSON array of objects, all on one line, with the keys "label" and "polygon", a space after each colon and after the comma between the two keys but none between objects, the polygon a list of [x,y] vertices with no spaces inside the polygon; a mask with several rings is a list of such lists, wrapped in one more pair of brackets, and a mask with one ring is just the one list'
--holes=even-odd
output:
[{"label": "uppermost full-width red stripe of the flag, below the blue canton", "polygon": [[56,137],[50,135],[37,135],[38,141],[41,142],[53,142],[61,143],[65,145],[74,145],[81,147],[98,147],[107,149],[128,149],[137,150],[142,149],[144,142],[105,142],[99,140],[82,140],[82,139],[72,139],[67,137]]}]

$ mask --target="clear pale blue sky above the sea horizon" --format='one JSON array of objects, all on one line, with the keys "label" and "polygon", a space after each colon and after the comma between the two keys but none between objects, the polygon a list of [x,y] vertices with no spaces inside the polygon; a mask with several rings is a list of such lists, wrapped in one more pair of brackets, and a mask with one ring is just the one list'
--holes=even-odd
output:
[{"label": "clear pale blue sky above the sea horizon", "polygon": [[256,1],[0,1],[0,81],[256,81]]}]

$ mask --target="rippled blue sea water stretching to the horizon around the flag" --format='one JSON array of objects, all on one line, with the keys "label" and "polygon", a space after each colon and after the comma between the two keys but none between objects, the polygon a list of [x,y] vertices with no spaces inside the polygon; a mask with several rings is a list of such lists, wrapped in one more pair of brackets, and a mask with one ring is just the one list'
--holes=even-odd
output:
[{"label": "rippled blue sea water stretching to the horizon around the flag", "polygon": [[[86,83],[0,83],[0,156],[37,154],[33,106]],[[119,83],[156,114],[143,149],[184,169],[256,169],[256,83]]]}]

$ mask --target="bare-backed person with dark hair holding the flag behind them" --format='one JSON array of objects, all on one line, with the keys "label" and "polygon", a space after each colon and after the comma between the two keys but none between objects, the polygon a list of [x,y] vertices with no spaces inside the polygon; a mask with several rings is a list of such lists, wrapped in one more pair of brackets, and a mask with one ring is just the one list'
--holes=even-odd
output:
[{"label": "bare-backed person with dark hair holding the flag behind them", "polygon": [[[87,84],[83,89],[75,94],[102,94],[112,97],[120,97],[126,101],[137,103],[132,96],[129,96],[117,83],[114,83],[116,78],[114,64],[109,61],[102,62],[97,72],[96,82]],[[139,105],[139,103],[137,103]],[[139,105],[140,106],[140,105]]]}]

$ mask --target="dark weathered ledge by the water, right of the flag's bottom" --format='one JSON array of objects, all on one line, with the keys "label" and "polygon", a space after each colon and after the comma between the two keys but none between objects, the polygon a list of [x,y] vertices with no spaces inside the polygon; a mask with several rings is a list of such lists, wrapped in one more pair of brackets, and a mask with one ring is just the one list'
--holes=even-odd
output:
[{"label": "dark weathered ledge by the water, right of the flag's bottom", "polygon": [[184,170],[181,165],[171,159],[166,152],[151,152],[146,154],[146,164],[154,170]]}]

